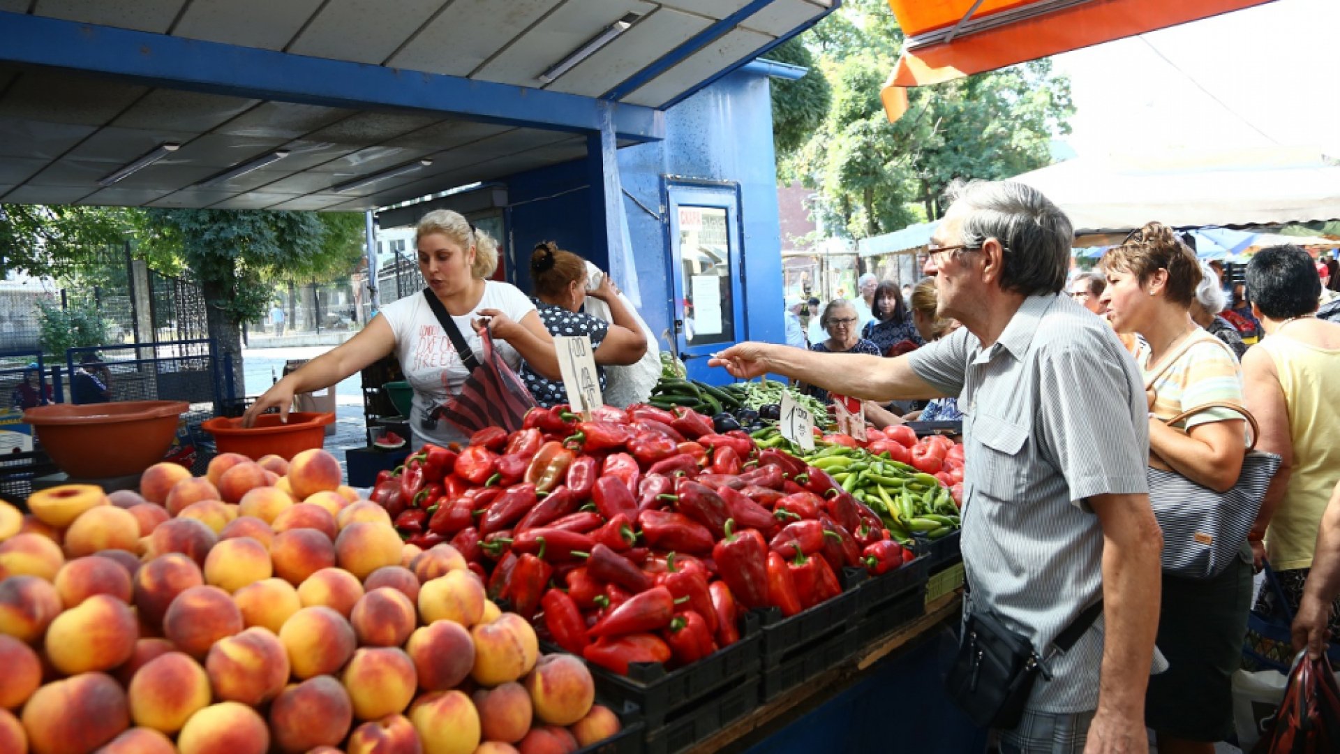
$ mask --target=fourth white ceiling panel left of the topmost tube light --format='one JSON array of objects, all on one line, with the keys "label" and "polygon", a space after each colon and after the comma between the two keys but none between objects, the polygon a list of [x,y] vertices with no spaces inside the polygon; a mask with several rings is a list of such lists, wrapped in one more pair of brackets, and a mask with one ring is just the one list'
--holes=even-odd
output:
[{"label": "fourth white ceiling panel left of the topmost tube light", "polygon": [[173,34],[283,50],[320,4],[322,0],[192,0]]}]

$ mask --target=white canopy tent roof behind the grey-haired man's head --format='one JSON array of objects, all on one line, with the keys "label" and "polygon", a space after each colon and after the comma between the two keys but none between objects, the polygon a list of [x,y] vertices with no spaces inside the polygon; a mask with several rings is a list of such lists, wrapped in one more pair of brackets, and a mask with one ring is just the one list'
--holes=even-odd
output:
[{"label": "white canopy tent roof behind the grey-haired man's head", "polygon": [[1340,161],[1316,149],[1077,157],[1012,180],[1057,203],[1077,233],[1340,219]]}]

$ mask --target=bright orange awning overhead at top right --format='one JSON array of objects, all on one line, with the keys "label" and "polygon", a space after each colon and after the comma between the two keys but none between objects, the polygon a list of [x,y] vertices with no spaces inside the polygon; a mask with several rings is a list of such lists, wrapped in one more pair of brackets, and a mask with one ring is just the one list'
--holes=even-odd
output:
[{"label": "bright orange awning overhead at top right", "polygon": [[906,35],[880,98],[890,121],[907,89],[993,71],[1270,0],[888,0]]}]

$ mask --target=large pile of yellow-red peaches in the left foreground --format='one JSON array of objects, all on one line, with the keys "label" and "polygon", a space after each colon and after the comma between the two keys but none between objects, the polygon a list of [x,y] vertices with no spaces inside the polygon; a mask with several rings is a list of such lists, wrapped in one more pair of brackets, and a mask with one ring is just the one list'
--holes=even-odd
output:
[{"label": "large pile of yellow-red peaches in the left foreground", "polygon": [[326,451],[0,502],[4,754],[574,751],[614,735],[450,545],[405,545]]}]

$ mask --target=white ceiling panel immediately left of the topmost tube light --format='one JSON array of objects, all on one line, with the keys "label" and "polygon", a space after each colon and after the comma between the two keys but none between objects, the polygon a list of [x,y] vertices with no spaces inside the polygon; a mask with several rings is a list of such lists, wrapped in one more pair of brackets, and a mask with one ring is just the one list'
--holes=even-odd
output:
[{"label": "white ceiling panel immediately left of the topmost tube light", "polygon": [[651,3],[638,0],[582,0],[565,3],[544,23],[521,35],[511,47],[498,52],[470,78],[540,86],[539,76],[555,63],[599,35],[626,13],[650,13]]}]

